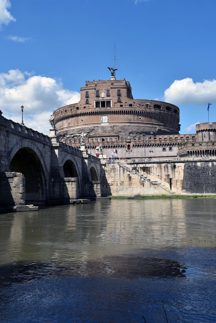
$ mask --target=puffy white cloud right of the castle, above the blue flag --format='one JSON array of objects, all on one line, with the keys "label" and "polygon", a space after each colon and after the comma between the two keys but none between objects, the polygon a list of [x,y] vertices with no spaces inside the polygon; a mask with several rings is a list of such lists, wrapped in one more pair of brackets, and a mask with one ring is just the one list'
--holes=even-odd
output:
[{"label": "puffy white cloud right of the castle, above the blue flag", "polygon": [[175,80],[164,92],[164,100],[173,104],[206,105],[216,103],[216,80],[194,83],[192,78]]}]

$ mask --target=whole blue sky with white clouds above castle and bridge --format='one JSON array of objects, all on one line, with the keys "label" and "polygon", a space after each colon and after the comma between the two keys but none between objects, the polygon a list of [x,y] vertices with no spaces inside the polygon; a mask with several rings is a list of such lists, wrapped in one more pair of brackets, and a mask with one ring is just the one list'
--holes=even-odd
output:
[{"label": "whole blue sky with white clouds above castle and bridge", "polygon": [[[135,99],[180,108],[181,133],[216,121],[215,0],[0,0],[0,109],[48,133],[85,80],[117,78]],[[194,126],[193,126],[194,125]]]}]

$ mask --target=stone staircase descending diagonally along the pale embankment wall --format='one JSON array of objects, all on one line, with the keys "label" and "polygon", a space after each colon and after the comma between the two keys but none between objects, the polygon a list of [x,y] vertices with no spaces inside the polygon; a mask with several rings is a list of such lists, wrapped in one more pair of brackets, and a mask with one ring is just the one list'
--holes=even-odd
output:
[{"label": "stone staircase descending diagonally along the pale embankment wall", "polygon": [[[119,167],[122,167],[128,173],[134,174],[135,176],[139,176],[145,182],[149,183],[148,185],[149,188],[153,186],[155,188],[155,193],[172,194],[172,195],[176,193],[176,189],[172,188],[171,190],[169,182],[165,178],[161,177],[160,175],[154,174],[153,172],[150,172],[150,174],[147,172],[144,172],[141,167],[137,167],[135,166],[135,164],[127,164],[126,161],[118,161],[116,162],[116,164],[118,164]],[[159,192],[156,192],[156,191],[159,191]]]}]

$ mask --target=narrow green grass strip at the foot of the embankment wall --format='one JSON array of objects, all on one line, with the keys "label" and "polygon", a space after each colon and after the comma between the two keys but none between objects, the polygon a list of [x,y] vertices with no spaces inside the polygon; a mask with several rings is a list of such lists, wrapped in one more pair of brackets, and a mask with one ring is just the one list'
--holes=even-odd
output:
[{"label": "narrow green grass strip at the foot of the embankment wall", "polygon": [[114,196],[111,200],[155,200],[155,199],[216,199],[216,195],[133,195],[133,196]]}]

